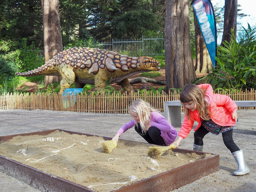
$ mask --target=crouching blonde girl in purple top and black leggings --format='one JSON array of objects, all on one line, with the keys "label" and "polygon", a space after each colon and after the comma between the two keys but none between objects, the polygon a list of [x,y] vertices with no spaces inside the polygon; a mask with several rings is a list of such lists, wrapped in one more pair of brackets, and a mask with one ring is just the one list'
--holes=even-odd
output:
[{"label": "crouching blonde girl in purple top and black leggings", "polygon": [[174,142],[177,136],[176,129],[148,102],[137,99],[129,109],[133,119],[124,124],[113,139],[118,141],[120,135],[135,126],[136,132],[150,144],[166,146]]}]

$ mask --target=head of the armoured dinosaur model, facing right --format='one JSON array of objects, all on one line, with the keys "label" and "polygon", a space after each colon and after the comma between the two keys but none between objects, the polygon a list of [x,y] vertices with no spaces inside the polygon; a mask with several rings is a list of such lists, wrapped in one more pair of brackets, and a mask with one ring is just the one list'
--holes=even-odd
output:
[{"label": "head of the armoured dinosaur model, facing right", "polygon": [[160,70],[160,62],[152,57],[148,57],[148,56],[142,56],[140,57],[140,62],[137,64],[138,68],[140,68],[140,70],[154,70],[154,71],[158,71]]}]

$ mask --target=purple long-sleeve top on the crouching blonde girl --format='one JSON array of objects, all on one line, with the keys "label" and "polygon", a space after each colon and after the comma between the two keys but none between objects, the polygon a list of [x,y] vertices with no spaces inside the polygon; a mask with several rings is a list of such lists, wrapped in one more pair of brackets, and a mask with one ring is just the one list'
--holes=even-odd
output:
[{"label": "purple long-sleeve top on the crouching blonde girl", "polygon": [[[150,117],[151,126],[158,128],[161,131],[161,137],[164,139],[164,143],[166,145],[170,145],[174,142],[177,136],[176,129],[168,122],[164,116],[162,116],[159,112],[153,111]],[[135,126],[134,119],[124,124],[119,130],[118,134],[122,135],[128,129]]]}]

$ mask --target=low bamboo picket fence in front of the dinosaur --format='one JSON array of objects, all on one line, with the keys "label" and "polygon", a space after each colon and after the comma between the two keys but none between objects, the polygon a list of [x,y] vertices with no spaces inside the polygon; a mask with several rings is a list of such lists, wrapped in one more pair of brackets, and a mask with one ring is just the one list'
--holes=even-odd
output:
[{"label": "low bamboo picket fence in front of the dinosaur", "polygon": [[[256,100],[256,90],[250,89],[231,92],[216,92],[226,94],[233,100]],[[152,107],[160,112],[164,112],[164,102],[179,100],[180,91],[169,91],[168,94],[162,92],[107,92],[90,94],[59,95],[58,93],[8,93],[0,96],[0,110],[4,109],[21,109],[21,110],[55,110],[55,111],[72,111],[85,113],[129,113],[130,104],[136,98],[141,98],[149,102]],[[255,107],[239,107],[238,109],[254,109]]]}]

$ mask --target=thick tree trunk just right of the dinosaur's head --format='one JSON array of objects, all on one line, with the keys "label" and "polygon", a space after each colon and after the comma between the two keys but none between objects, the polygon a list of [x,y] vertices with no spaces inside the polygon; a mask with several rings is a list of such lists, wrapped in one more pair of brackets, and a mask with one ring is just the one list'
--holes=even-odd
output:
[{"label": "thick tree trunk just right of the dinosaur's head", "polygon": [[166,0],[164,46],[168,92],[196,78],[190,46],[189,0]]}]

